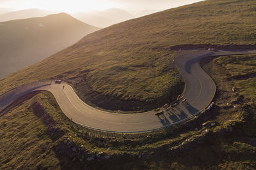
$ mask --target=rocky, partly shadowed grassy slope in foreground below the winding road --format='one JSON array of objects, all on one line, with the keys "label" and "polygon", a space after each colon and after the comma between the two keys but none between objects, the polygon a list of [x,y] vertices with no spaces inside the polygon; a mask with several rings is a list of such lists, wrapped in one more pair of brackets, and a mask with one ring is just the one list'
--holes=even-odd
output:
[{"label": "rocky, partly shadowed grassy slope in foreground below the winding road", "polygon": [[[255,72],[254,57],[203,60],[217,85],[214,108],[147,134],[104,134],[79,127],[65,117],[52,94],[33,92],[0,113],[0,168],[255,169],[256,87],[236,86],[239,75]],[[230,69],[237,65],[252,67]],[[255,78],[247,76],[243,80]]]}]

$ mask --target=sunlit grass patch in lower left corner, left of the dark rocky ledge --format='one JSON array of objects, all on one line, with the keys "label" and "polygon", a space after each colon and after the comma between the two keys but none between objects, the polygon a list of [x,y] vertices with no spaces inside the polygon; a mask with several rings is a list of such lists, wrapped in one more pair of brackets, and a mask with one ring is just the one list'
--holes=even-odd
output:
[{"label": "sunlit grass patch in lower left corner, left of the dark rocky ledge", "polygon": [[46,134],[47,125],[29,110],[31,98],[12,106],[0,117],[0,168],[60,169],[60,161],[52,150],[52,139]]}]

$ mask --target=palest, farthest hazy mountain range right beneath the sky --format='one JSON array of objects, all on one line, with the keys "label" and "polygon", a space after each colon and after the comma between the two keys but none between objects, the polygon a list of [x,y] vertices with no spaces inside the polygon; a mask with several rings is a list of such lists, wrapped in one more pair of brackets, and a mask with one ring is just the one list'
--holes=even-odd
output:
[{"label": "palest, farthest hazy mountain range right beneath the sky", "polygon": [[[142,17],[149,15],[151,13],[157,12],[156,10],[143,10],[139,13],[132,15],[131,13],[120,10],[118,8],[109,8],[105,11],[88,11],[88,12],[77,12],[70,13],[72,17],[81,20],[84,23],[94,25],[96,27],[108,27],[113,24],[118,24],[119,22],[124,22],[125,20],[130,20],[136,17]],[[34,17],[45,17],[57,13],[56,11],[46,11],[40,9],[28,9],[19,11],[10,11],[7,8],[0,8],[0,22],[9,20],[19,20],[25,18]]]}]

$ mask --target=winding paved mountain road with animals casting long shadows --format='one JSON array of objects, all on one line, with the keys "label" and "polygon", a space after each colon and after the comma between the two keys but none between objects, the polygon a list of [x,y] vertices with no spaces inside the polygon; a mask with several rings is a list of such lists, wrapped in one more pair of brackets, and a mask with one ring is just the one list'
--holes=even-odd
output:
[{"label": "winding paved mountain road with animals casting long shadows", "polygon": [[[51,92],[60,105],[61,110],[73,122],[113,132],[142,132],[160,129],[168,125],[186,120],[198,111],[204,110],[211,103],[216,92],[214,81],[200,67],[199,61],[204,57],[219,55],[236,55],[256,53],[256,50],[198,50],[175,57],[175,66],[184,77],[186,87],[184,97],[185,103],[179,103],[177,107],[157,117],[154,111],[145,113],[118,114],[97,110],[83,103],[76,93],[67,84],[38,83],[38,85],[27,86],[22,90],[14,90],[0,96],[0,115],[10,103],[28,92],[35,90],[47,90]],[[63,85],[65,88],[63,89]]]}]

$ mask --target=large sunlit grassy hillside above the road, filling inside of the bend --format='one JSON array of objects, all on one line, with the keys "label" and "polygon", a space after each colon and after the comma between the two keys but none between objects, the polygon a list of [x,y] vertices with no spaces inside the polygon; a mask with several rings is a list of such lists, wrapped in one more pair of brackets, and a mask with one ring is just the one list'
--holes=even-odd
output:
[{"label": "large sunlit grassy hillside above the road, filling inside of the bend", "polygon": [[182,91],[170,46],[254,44],[255,8],[253,0],[208,0],[122,22],[6,77],[1,92],[54,77],[71,83],[84,101],[100,108],[161,106]]}]

